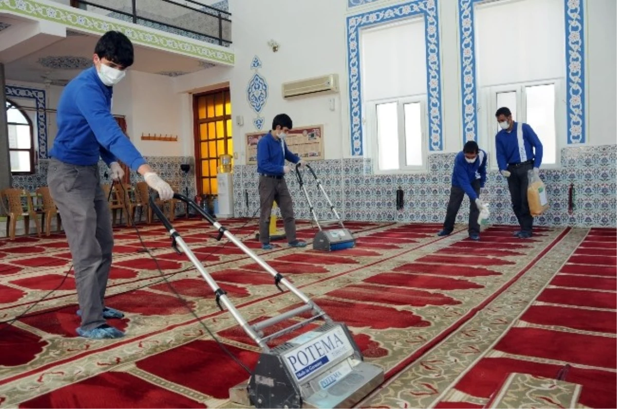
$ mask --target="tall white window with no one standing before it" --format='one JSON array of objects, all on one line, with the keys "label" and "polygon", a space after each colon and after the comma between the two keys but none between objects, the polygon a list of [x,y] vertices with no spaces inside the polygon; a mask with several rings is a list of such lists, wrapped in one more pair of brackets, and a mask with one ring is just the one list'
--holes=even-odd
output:
[{"label": "tall white window with no one standing before it", "polygon": [[424,37],[421,17],[361,33],[366,145],[378,173],[426,169]]}]

